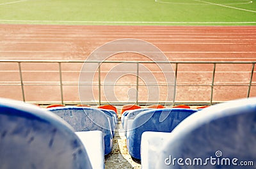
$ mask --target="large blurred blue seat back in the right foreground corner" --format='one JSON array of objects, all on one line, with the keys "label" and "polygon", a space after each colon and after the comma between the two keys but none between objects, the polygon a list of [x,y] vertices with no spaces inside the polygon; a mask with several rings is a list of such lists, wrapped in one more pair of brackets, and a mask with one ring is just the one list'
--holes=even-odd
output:
[{"label": "large blurred blue seat back in the right foreground corner", "polygon": [[[255,168],[255,150],[256,98],[239,99],[182,121],[159,147],[150,168]],[[241,166],[244,161],[250,166]]]}]

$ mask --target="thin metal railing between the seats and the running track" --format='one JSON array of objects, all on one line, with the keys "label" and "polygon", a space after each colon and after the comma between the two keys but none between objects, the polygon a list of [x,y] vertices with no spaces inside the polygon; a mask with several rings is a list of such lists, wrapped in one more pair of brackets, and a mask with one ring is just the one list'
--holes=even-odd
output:
[{"label": "thin metal railing between the seats and the running track", "polygon": [[[99,96],[97,96],[98,100],[96,101],[97,104],[102,105],[102,104],[106,104],[108,102],[106,102],[104,99],[102,99],[102,92],[101,92],[101,87],[102,87],[102,72],[104,72],[104,70],[102,70],[102,68],[100,67],[102,63],[110,63],[110,64],[118,64],[120,62],[123,61],[104,61],[104,62],[86,62],[88,64],[90,63],[98,63],[99,64],[99,68],[97,70],[97,73],[99,73],[98,79],[97,79],[97,84],[93,84],[96,85],[98,90],[97,94]],[[39,70],[40,73],[58,73],[58,80],[57,81],[44,81],[44,80],[40,80],[40,81],[36,81],[36,80],[32,80],[32,81],[28,81],[24,79],[24,73],[33,73],[36,70],[29,70],[29,65],[24,65],[24,64],[36,64],[36,63],[40,63],[40,64],[58,64],[58,69],[55,68],[54,70]],[[4,98],[19,98],[18,96],[15,96],[15,94],[10,94],[8,90],[8,87],[10,86],[15,86],[15,88],[12,88],[14,90],[21,90],[21,99],[22,101],[26,101],[26,102],[31,102],[31,103],[39,103],[39,104],[51,104],[51,103],[62,103],[62,104],[78,104],[80,103],[79,99],[76,100],[68,100],[65,99],[65,94],[64,94],[64,88],[65,87],[70,87],[70,86],[77,86],[78,85],[78,77],[76,78],[77,81],[65,81],[63,80],[63,73],[76,73],[78,74],[79,71],[81,70],[81,65],[84,63],[84,61],[39,61],[39,60],[26,60],[26,61],[17,61],[17,60],[0,60],[0,73],[1,73],[1,79],[0,79],[0,87],[1,92],[0,92],[0,97],[4,97]],[[254,78],[253,73],[255,71],[255,62],[251,62],[251,61],[244,61],[244,62],[223,62],[223,61],[211,61],[211,62],[206,62],[206,61],[197,61],[197,62],[190,62],[190,61],[179,61],[179,62],[175,62],[175,61],[170,61],[170,62],[151,62],[151,61],[145,61],[145,62],[139,62],[139,61],[125,61],[125,63],[131,63],[131,64],[136,64],[137,66],[139,64],[156,64],[156,63],[167,63],[167,64],[172,64],[172,66],[174,67],[173,69],[173,73],[175,73],[175,77],[176,77],[176,82],[175,82],[175,89],[177,91],[177,93],[175,92],[175,96],[177,98],[177,96],[180,96],[182,94],[180,94],[179,92],[183,91],[189,91],[188,88],[193,87],[193,91],[194,94],[198,94],[198,89],[204,88],[204,87],[209,87],[209,89],[207,88],[206,91],[210,91],[210,94],[206,94],[207,96],[209,96],[209,98],[205,98],[204,100],[189,100],[189,99],[175,99],[174,102],[170,102],[170,103],[164,103],[161,102],[159,100],[156,100],[156,102],[150,102],[150,104],[188,104],[188,105],[212,105],[214,103],[219,103],[225,100],[221,100],[221,99],[214,99],[214,96],[216,95],[216,93],[218,92],[218,89],[215,89],[216,87],[235,87],[232,92],[236,91],[236,87],[243,87],[243,91],[245,88],[246,89],[246,94],[244,94],[241,97],[251,97],[251,96],[256,96],[255,92],[252,92],[252,88],[254,89],[254,87],[256,88],[256,78]],[[9,66],[6,64],[10,64]],[[63,70],[63,64],[81,64],[80,66],[78,66],[77,70],[68,70],[68,66],[65,65],[65,70]],[[17,65],[17,66],[15,66]],[[191,66],[192,65],[192,66]],[[198,71],[198,70],[194,70],[194,68],[198,68],[198,65],[204,65],[204,67],[206,68],[205,70],[207,71]],[[244,70],[241,71],[232,71],[232,69],[236,68],[236,65],[240,65],[241,67],[243,67]],[[183,66],[183,67],[182,67]],[[181,68],[180,68],[181,67]],[[191,68],[191,71],[186,70],[184,68]],[[193,68],[194,67],[194,68]],[[200,66],[199,66],[200,67]],[[219,70],[217,70],[217,68]],[[237,68],[238,69],[238,68]],[[136,103],[139,105],[144,105],[144,104],[149,104],[149,103],[145,103],[143,101],[141,101],[139,99],[139,94],[138,94],[138,90],[141,86],[140,82],[139,82],[139,68],[137,67],[137,78],[136,78],[136,82],[134,83],[134,88],[136,88],[137,90],[137,96],[136,96]],[[12,79],[9,80],[12,77],[8,77],[9,74],[12,73],[19,73],[19,79]],[[198,83],[196,83],[195,79],[192,79],[191,81],[193,82],[189,82],[189,80],[185,80],[186,82],[182,81],[182,78],[185,77],[185,79],[188,79],[189,76],[191,76],[192,74],[200,74],[200,73],[205,73],[207,74],[207,82],[204,82],[204,80],[201,80],[199,77],[202,77],[202,75],[198,76]],[[217,81],[216,80],[216,74],[219,73],[221,75],[223,75],[223,79]],[[241,77],[240,79],[236,79],[236,76],[234,76],[233,80],[236,80],[235,82],[231,81],[225,81],[225,78],[230,77],[230,75],[232,75],[232,73],[236,73],[236,75],[239,75],[239,77]],[[240,75],[240,74],[241,75]],[[186,75],[187,74],[187,75]],[[227,75],[228,74],[228,75]],[[4,76],[3,76],[4,75]],[[211,78],[210,78],[211,75]],[[56,75],[55,75],[56,76]],[[221,76],[218,76],[218,78],[220,79]],[[7,79],[7,80],[6,80]],[[243,79],[243,80],[241,80]],[[245,79],[245,80],[244,80]],[[42,100],[31,100],[31,99],[27,99],[27,96],[29,95],[28,92],[26,92],[25,87],[28,86],[57,86],[59,89],[57,91],[60,92],[60,97],[58,100],[54,100],[54,101],[45,101],[44,99]],[[123,84],[124,85],[124,84]],[[164,84],[166,85],[166,84]],[[164,86],[163,85],[163,86]],[[182,90],[180,90],[179,88],[182,88]],[[5,90],[6,89],[6,90]],[[40,90],[40,89],[39,89]],[[29,91],[29,90],[28,90]],[[55,90],[56,91],[56,90]],[[254,90],[253,90],[254,91]],[[236,92],[239,92],[239,90],[237,90]],[[44,91],[43,91],[44,93]],[[204,95],[204,91],[201,92],[202,95]],[[214,95],[215,94],[215,95]],[[19,94],[17,94],[19,95]],[[74,94],[76,95],[76,94]],[[218,93],[217,93],[218,95]],[[224,94],[225,95],[225,94]],[[43,95],[42,95],[43,96]],[[236,97],[234,98],[229,98],[228,97],[228,92],[226,93],[227,99],[236,99]],[[240,95],[239,95],[240,96]],[[38,98],[41,98],[40,95],[38,95]],[[44,98],[44,97],[42,97]],[[193,96],[191,96],[191,98],[193,98]],[[95,104],[95,102],[90,102],[88,101],[87,104]],[[112,103],[113,105],[122,105],[123,103]]]}]

